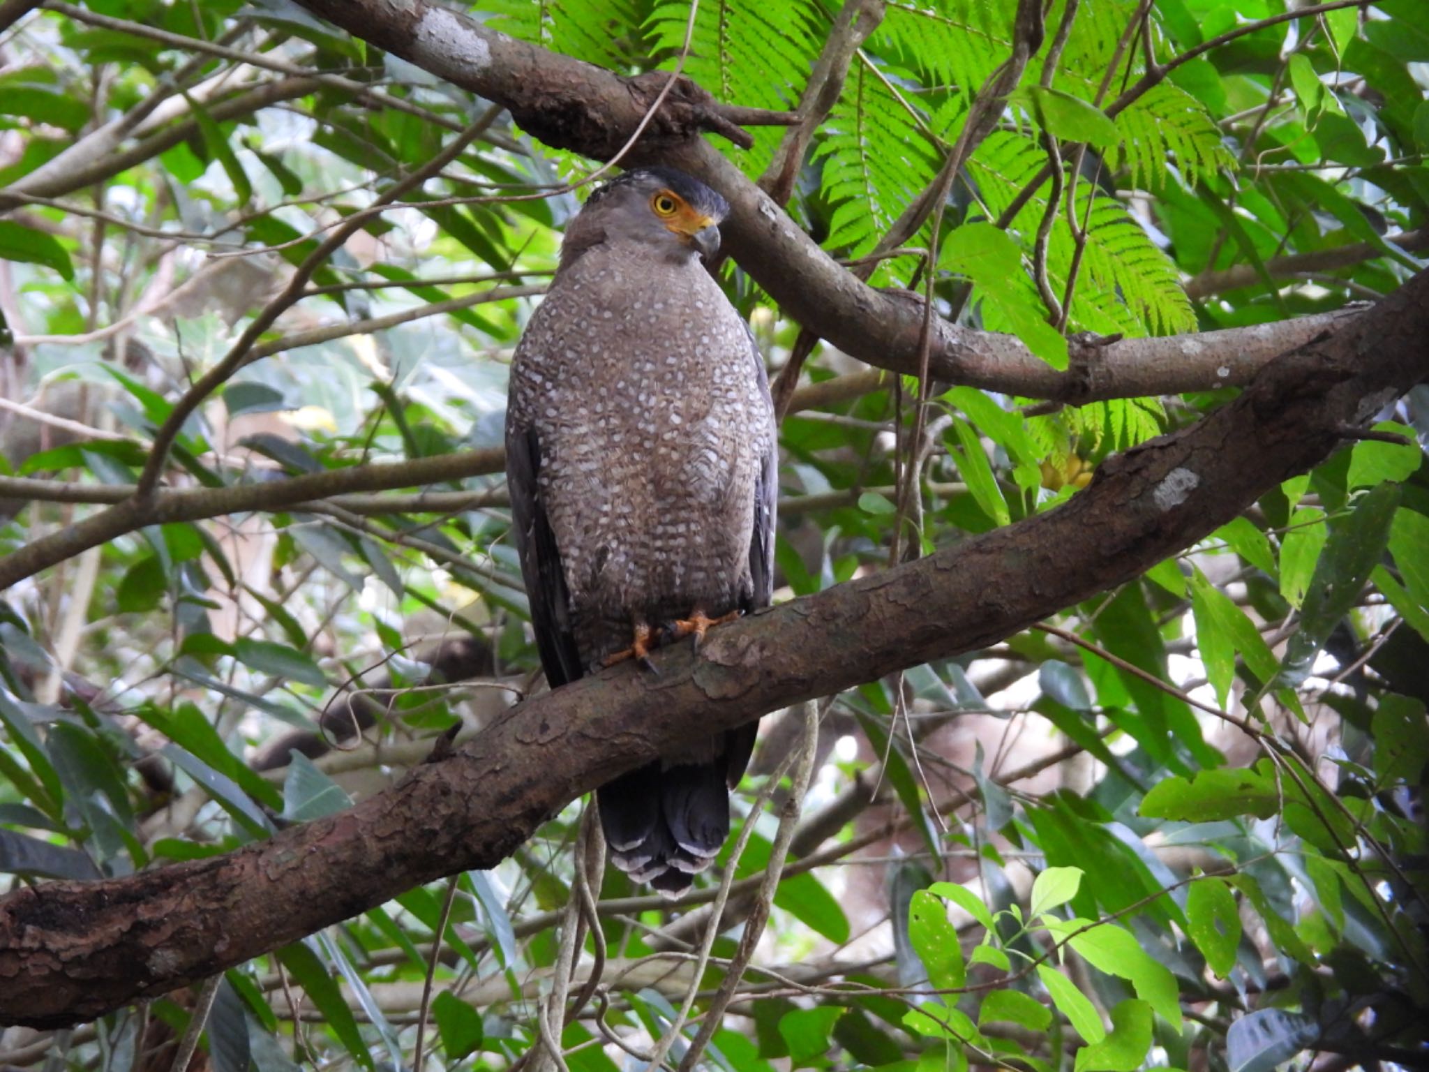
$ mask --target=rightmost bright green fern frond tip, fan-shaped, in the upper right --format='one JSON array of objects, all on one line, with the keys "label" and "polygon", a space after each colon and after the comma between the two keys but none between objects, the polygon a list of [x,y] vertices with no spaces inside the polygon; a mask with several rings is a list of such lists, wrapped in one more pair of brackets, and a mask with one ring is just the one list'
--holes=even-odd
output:
[{"label": "rightmost bright green fern frond tip, fan-shaped, in the upper right", "polygon": [[1155,189],[1170,157],[1189,186],[1220,167],[1233,169],[1235,156],[1206,107],[1169,81],[1143,94],[1116,117],[1122,144],[1107,157],[1112,167],[1127,167],[1130,184]]}]

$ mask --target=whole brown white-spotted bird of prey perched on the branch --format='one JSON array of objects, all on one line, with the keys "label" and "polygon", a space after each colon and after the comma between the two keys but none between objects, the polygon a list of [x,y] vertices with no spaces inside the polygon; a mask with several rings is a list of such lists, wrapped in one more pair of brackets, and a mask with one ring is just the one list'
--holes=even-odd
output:
[{"label": "whole brown white-spotted bird of prey perched on the branch", "polygon": [[[596,190],[512,363],[506,477],[552,688],[767,606],[776,429],[749,326],[700,263],[729,204],[667,167]],[[676,895],[729,833],[755,725],[597,793],[616,866]]]}]

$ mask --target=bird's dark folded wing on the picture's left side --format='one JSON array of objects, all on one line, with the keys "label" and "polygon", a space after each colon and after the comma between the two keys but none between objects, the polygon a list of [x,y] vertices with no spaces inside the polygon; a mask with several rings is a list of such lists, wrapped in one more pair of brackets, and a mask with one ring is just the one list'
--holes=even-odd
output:
[{"label": "bird's dark folded wing on the picture's left side", "polygon": [[526,599],[546,682],[557,688],[584,673],[570,620],[570,592],[560,550],[542,503],[540,442],[532,427],[506,426],[506,486],[512,496],[512,527],[522,556]]}]

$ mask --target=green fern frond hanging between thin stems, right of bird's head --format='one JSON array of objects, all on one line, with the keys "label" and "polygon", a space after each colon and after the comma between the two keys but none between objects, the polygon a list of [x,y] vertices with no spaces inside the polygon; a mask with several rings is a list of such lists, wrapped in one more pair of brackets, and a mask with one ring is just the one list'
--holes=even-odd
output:
[{"label": "green fern frond hanging between thin stems, right of bird's head", "polygon": [[855,63],[815,150],[835,206],[829,249],[863,256],[932,182],[939,160],[919,120],[867,63]]}]

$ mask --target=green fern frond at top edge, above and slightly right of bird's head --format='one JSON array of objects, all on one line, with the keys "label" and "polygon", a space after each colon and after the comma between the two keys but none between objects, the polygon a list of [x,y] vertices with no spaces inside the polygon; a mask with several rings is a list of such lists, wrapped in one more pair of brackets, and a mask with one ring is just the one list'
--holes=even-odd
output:
[{"label": "green fern frond at top edge, above and slightly right of bird's head", "polygon": [[[646,31],[657,50],[679,53],[689,16],[687,0],[656,4]],[[829,20],[815,0],[703,0],[683,70],[726,104],[793,109],[827,31]],[[746,174],[759,174],[783,130],[752,133],[755,147],[732,159]]]}]

